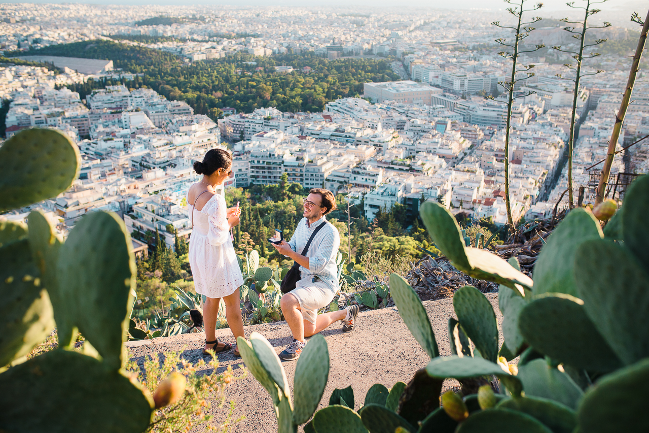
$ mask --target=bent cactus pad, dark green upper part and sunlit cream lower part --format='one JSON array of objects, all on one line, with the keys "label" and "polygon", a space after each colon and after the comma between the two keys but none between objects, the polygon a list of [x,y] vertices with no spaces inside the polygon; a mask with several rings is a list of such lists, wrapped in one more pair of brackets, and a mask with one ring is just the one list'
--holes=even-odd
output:
[{"label": "bent cactus pad, dark green upper part and sunlit cream lower part", "polygon": [[465,246],[458,222],[443,205],[424,202],[420,215],[435,245],[457,269],[478,280],[501,283],[523,295],[523,287],[532,288],[532,278],[513,269],[506,261],[485,250]]}]

